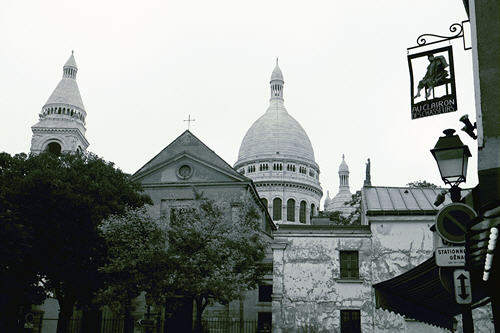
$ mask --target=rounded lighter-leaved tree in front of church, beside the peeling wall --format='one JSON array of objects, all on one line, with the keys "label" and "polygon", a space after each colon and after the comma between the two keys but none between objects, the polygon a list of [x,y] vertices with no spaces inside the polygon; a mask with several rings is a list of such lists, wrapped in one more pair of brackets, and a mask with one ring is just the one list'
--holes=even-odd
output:
[{"label": "rounded lighter-leaved tree in front of church, beside the peeling wall", "polygon": [[168,227],[168,254],[172,263],[170,290],[196,303],[196,330],[202,313],[213,302],[227,304],[255,288],[265,274],[261,264],[267,243],[261,216],[244,199],[239,216],[231,221],[229,205],[195,192],[194,202],[174,210]]}]

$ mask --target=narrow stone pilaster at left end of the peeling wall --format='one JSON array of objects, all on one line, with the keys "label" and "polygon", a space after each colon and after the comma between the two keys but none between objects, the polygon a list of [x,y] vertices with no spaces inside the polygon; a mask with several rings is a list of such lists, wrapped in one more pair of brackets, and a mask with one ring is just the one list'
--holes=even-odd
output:
[{"label": "narrow stone pilaster at left end of the peeling wall", "polygon": [[273,293],[271,295],[273,300],[273,333],[282,333],[282,321],[283,321],[283,266],[284,262],[284,250],[286,248],[286,240],[275,240],[271,244],[273,249]]}]

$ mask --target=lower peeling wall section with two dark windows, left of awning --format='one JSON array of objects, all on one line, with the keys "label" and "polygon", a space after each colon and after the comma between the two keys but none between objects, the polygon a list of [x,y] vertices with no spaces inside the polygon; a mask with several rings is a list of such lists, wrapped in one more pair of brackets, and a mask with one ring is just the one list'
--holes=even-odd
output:
[{"label": "lower peeling wall section with two dark windows, left of awning", "polygon": [[[369,332],[374,310],[369,230],[319,229],[275,234],[273,332],[340,332],[344,309],[360,310],[361,330]],[[359,280],[340,279],[342,250],[359,251]]]}]

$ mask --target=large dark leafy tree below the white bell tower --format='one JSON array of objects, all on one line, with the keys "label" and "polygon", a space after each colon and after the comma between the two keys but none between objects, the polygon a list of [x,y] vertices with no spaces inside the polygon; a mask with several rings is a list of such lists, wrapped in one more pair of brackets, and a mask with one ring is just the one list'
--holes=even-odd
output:
[{"label": "large dark leafy tree below the white bell tower", "polygon": [[[102,285],[102,220],[151,200],[113,163],[93,154],[43,153],[11,160],[2,171],[15,175],[15,181],[2,184],[7,187],[2,200],[9,207],[5,220],[25,232],[26,242],[13,246],[33,263],[31,285],[43,286],[57,298],[57,332],[64,333],[75,304],[90,305]],[[0,241],[11,233],[2,234]]]}]

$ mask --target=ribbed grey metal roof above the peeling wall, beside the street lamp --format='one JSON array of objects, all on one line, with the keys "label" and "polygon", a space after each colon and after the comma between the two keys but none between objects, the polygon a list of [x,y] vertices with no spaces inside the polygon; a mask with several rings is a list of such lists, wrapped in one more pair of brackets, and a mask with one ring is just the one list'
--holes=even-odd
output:
[{"label": "ribbed grey metal roof above the peeling wall, beside the street lamp", "polygon": [[[363,208],[367,215],[419,215],[435,214],[450,204],[449,195],[439,206],[434,206],[436,197],[445,188],[365,186],[361,189]],[[470,190],[463,190],[462,196]]]}]

